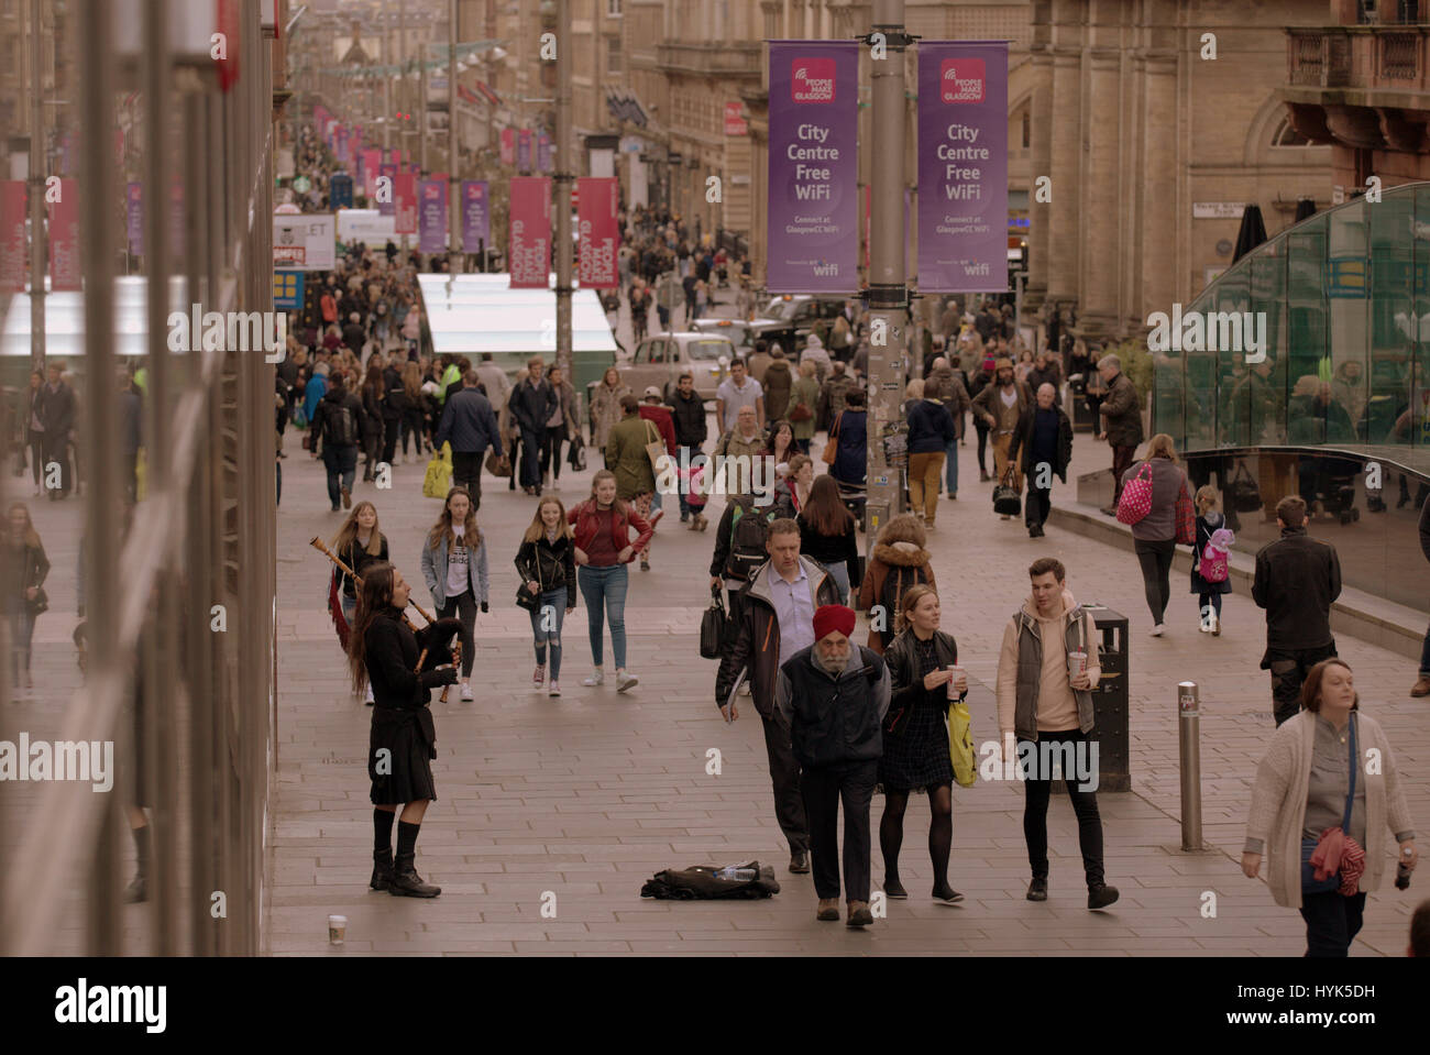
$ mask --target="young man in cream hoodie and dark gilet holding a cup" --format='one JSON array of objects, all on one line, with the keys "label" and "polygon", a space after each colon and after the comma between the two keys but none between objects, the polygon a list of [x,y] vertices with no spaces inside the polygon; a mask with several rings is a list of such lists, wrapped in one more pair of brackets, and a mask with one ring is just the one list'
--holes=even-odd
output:
[{"label": "young man in cream hoodie and dark gilet holding a cup", "polygon": [[[1054,759],[1061,759],[1068,796],[1077,813],[1078,843],[1087,878],[1087,906],[1117,901],[1117,888],[1103,875],[1103,819],[1097,812],[1097,743],[1093,732],[1093,689],[1101,673],[1093,615],[1077,606],[1065,585],[1062,562],[1040,558],[1028,568],[1032,595],[1008,622],[998,656],[998,729],[1004,763],[1020,759],[1027,793],[1022,835],[1028,842],[1032,882],[1028,901],[1048,899],[1048,798]],[[1071,670],[1071,653],[1081,652]]]}]

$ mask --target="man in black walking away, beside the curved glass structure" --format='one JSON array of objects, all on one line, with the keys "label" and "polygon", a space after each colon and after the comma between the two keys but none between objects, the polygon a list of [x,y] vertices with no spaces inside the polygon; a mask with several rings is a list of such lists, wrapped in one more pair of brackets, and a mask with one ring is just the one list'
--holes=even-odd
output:
[{"label": "man in black walking away, beside the curved glass structure", "polygon": [[1301,683],[1323,659],[1336,656],[1331,603],[1340,596],[1340,558],[1336,548],[1306,533],[1306,500],[1287,495],[1276,503],[1281,538],[1256,555],[1251,599],[1266,609],[1266,655],[1271,672],[1276,723],[1301,708]]}]

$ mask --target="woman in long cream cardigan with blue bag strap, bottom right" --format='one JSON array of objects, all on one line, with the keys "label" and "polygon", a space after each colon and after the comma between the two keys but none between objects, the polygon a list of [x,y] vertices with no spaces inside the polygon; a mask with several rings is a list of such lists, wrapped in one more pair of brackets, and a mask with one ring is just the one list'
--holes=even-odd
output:
[{"label": "woman in long cream cardigan with blue bag strap, bottom right", "polygon": [[1400,845],[1397,862],[1411,871],[1416,832],[1394,748],[1361,712],[1350,668],[1340,659],[1311,666],[1301,705],[1257,766],[1241,871],[1256,879],[1270,858],[1271,898],[1301,911],[1306,955],[1340,958],[1384,876],[1387,829]]}]

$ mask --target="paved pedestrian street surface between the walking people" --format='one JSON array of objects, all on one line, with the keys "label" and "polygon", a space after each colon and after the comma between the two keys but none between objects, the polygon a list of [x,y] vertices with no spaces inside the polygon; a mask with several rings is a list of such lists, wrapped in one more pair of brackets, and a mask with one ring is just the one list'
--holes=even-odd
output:
[{"label": "paved pedestrian street surface between the walking people", "polygon": [[[1261,745],[1273,730],[1268,680],[1257,669],[1261,613],[1244,595],[1227,599],[1226,633],[1197,632],[1195,599],[1174,573],[1170,630],[1147,636],[1150,620],[1131,553],[1050,526],[1027,538],[1000,522],[978,485],[972,447],[961,453],[962,489],[940,502],[930,549],[944,598],[944,629],[981,682],[972,700],[977,742],[997,735],[992,685],[1002,628],[1027,590],[1027,565],[1058,556],[1078,600],[1131,618],[1131,772],[1128,793],[1104,793],[1108,881],[1121,901],[1105,913],[1085,908],[1077,828],[1065,798],[1050,811],[1051,896],[1024,899],[1022,791],[980,782],[954,791],[951,882],[958,908],[932,903],[925,851],[928,806],[907,815],[902,871],[912,896],[892,902],[867,932],[814,919],[809,876],[785,871],[788,849],[775,823],[761,725],[746,708],[726,726],[715,708],[715,663],[699,658],[696,630],[706,603],[714,538],[685,530],[672,512],[661,525],[654,569],[632,569],[626,626],[629,668],[641,685],[621,696],[609,685],[581,686],[589,673],[585,608],[565,632],[561,699],[531,690],[526,613],[512,600],[512,566],[533,499],[483,479],[479,523],[490,549],[492,612],[478,618],[478,699],[433,705],[438,802],[418,843],[419,871],[442,886],[436,901],[368,889],[372,808],[365,755],[369,712],[346,685],[342,655],[323,610],[326,562],[307,545],[329,538],[330,513],[317,463],[287,435],[279,510],[279,778],[269,946],[296,955],[582,954],[905,954],[905,955],[1300,955],[1298,913],[1277,908],[1264,883],[1240,872],[1240,848]],[[1074,469],[1090,472],[1107,447],[1085,435]],[[593,469],[595,466],[592,466]],[[420,495],[423,463],[395,470],[390,492],[358,485],[378,503],[395,560],[420,582],[419,548],[439,503]],[[562,475],[566,502],[589,493],[589,476]],[[1060,487],[1054,500],[1072,500]],[[714,516],[711,517],[715,519]],[[423,606],[430,598],[415,592]],[[859,630],[862,639],[862,628]],[[1407,696],[1413,663],[1341,638],[1363,706],[1386,726],[1420,825],[1430,823],[1430,716]],[[608,669],[609,642],[608,642]],[[1201,683],[1204,853],[1180,852],[1175,683]],[[718,749],[719,775],[706,773]],[[882,878],[875,809],[875,888]],[[774,863],[782,892],[746,903],[642,901],[641,885],[668,866]],[[1216,916],[1203,915],[1216,895]],[[1419,891],[1373,895],[1353,955],[1401,955]],[[543,898],[555,916],[543,915]],[[349,918],[347,943],[326,942],[326,918]]]}]

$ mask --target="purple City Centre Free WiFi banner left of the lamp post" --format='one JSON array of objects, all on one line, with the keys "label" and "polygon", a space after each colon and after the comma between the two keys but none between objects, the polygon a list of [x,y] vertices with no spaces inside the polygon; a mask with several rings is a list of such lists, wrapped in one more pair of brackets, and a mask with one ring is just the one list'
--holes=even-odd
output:
[{"label": "purple City Centre Free WiFi banner left of the lamp post", "polygon": [[858,49],[769,46],[771,293],[858,287]]}]

